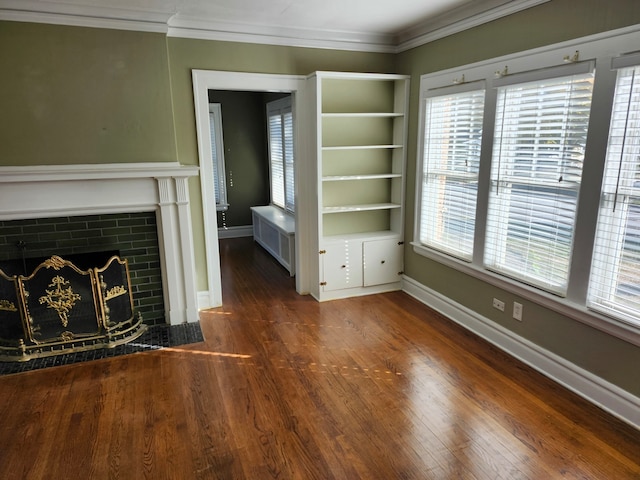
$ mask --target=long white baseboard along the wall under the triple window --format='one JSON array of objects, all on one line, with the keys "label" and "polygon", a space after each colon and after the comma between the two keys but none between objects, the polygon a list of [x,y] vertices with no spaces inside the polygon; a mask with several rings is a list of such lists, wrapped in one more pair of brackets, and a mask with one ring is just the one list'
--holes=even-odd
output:
[{"label": "long white baseboard along the wall under the triple window", "polygon": [[589,402],[640,429],[640,398],[409,277],[402,289]]}]

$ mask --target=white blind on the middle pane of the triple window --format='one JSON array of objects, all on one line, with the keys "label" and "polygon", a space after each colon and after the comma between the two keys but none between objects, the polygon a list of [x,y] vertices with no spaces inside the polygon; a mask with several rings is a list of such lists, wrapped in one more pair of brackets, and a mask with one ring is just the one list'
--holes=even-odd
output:
[{"label": "white blind on the middle pane of the triple window", "polygon": [[497,89],[485,266],[563,295],[593,73],[517,80]]}]

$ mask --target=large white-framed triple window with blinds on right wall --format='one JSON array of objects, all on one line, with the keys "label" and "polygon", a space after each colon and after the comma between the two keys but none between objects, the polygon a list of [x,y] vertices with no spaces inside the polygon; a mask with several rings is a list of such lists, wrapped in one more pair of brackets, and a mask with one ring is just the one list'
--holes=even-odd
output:
[{"label": "large white-framed triple window with blinds on right wall", "polygon": [[640,344],[640,29],[420,79],[416,253]]}]

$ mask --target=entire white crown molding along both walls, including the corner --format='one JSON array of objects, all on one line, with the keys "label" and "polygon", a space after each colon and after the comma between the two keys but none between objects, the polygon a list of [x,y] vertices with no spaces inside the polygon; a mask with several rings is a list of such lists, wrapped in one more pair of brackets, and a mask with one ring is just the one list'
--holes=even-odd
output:
[{"label": "entire white crown molding along both walls, including the corner", "polygon": [[210,21],[175,11],[3,0],[0,20],[164,33],[169,37],[289,47],[400,53],[549,0],[469,2],[397,35]]}]

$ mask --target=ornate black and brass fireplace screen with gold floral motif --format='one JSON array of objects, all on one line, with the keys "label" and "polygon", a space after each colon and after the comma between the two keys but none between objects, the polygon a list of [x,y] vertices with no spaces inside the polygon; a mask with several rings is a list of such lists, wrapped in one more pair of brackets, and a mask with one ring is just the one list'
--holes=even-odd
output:
[{"label": "ornate black and brass fireplace screen with gold floral motif", "polygon": [[83,271],[53,256],[28,277],[0,270],[0,361],[113,347],[145,329],[126,259]]}]

